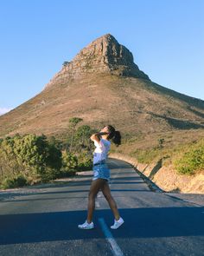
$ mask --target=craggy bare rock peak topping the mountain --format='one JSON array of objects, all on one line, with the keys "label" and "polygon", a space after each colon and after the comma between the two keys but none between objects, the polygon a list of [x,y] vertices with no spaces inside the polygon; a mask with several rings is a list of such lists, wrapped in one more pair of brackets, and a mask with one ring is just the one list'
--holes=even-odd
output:
[{"label": "craggy bare rock peak topping the mountain", "polygon": [[148,75],[138,69],[133,61],[131,51],[119,44],[110,34],[101,36],[88,44],[73,58],[72,62],[64,62],[63,68],[47,84],[65,82],[69,78],[79,78],[90,73],[132,76],[150,80]]}]

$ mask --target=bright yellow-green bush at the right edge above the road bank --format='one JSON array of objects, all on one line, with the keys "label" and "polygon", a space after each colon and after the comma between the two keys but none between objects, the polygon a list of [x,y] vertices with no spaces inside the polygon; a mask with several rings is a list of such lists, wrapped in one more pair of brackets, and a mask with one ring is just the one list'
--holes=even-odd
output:
[{"label": "bright yellow-green bush at the right edge above the road bank", "polygon": [[194,174],[204,169],[204,141],[192,145],[187,152],[175,160],[175,168],[180,174]]}]

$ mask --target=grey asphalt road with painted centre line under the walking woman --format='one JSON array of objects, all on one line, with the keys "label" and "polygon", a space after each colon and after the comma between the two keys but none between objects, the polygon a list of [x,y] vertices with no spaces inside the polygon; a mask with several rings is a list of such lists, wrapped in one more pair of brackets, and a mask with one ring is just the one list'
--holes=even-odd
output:
[{"label": "grey asphalt road with painted centre line under the walking woman", "polygon": [[0,255],[204,255],[204,207],[156,193],[124,161],[109,160],[111,190],[124,226],[99,192],[95,228],[86,220],[91,172],[68,183],[0,194]]}]

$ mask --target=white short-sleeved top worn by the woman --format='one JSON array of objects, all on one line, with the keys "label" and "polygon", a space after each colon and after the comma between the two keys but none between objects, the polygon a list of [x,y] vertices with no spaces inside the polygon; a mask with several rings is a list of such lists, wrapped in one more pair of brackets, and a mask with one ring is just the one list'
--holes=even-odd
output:
[{"label": "white short-sleeved top worn by the woman", "polygon": [[111,142],[105,139],[100,139],[100,141],[94,141],[96,146],[93,152],[93,164],[96,164],[99,161],[106,160],[107,154],[111,148]]}]

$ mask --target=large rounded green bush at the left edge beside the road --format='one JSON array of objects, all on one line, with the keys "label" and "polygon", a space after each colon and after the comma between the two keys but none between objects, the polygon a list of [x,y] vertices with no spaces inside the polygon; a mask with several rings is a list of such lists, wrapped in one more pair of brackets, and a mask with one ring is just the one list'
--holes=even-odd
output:
[{"label": "large rounded green bush at the left edge beside the road", "polygon": [[49,181],[61,169],[61,150],[49,144],[45,135],[15,135],[0,141],[1,181],[23,174],[29,181]]}]

